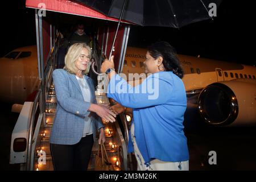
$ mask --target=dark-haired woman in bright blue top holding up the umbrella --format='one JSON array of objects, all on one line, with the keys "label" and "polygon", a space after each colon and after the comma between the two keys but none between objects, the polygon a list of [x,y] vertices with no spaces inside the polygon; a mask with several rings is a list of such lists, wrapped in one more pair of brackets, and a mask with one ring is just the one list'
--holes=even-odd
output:
[{"label": "dark-haired woman in bright blue top holding up the umbrella", "polygon": [[113,57],[101,67],[110,80],[108,97],[133,109],[128,151],[134,151],[138,170],[188,170],[187,97],[179,59],[169,43],[158,42],[148,47],[144,65],[151,75],[134,88],[113,71]]}]

